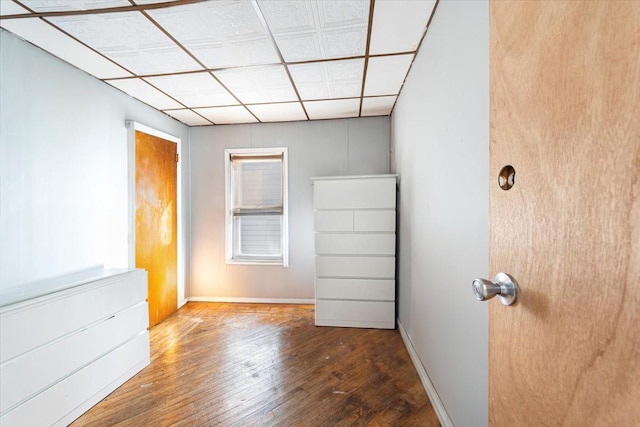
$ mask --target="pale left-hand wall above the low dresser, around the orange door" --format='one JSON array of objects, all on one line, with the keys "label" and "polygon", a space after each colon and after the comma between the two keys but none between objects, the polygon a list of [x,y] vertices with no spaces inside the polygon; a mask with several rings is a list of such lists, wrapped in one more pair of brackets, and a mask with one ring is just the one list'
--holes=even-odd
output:
[{"label": "pale left-hand wall above the low dresser, around the orange door", "polygon": [[184,157],[189,129],[4,30],[0,46],[0,289],[126,267],[125,120],[182,138]]}]

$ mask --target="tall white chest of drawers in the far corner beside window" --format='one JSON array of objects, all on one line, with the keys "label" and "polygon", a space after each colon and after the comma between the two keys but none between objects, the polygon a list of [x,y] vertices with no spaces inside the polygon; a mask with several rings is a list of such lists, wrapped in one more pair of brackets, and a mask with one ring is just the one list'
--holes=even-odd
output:
[{"label": "tall white chest of drawers in the far corner beside window", "polygon": [[395,328],[397,176],[313,186],[316,325]]}]

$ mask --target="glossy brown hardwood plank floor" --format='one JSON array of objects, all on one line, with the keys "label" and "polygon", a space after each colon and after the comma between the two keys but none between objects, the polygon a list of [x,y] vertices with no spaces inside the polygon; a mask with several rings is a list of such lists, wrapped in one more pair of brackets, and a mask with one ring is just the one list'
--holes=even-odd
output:
[{"label": "glossy brown hardwood plank floor", "polygon": [[439,426],[398,331],[314,326],[312,305],[188,303],[151,365],[72,426]]}]

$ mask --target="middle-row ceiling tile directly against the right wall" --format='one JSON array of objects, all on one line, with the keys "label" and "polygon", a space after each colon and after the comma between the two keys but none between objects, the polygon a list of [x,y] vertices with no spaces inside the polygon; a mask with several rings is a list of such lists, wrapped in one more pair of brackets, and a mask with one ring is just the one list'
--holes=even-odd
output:
[{"label": "middle-row ceiling tile directly against the right wall", "polygon": [[397,95],[414,55],[369,58],[364,95]]}]

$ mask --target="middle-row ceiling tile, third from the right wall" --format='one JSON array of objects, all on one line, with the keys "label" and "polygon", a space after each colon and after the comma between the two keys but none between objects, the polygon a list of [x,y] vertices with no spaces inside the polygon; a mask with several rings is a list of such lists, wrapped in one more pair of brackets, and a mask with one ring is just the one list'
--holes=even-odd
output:
[{"label": "middle-row ceiling tile, third from the right wall", "polygon": [[244,104],[297,101],[282,65],[236,68],[214,74]]}]

